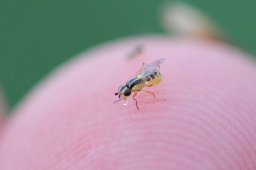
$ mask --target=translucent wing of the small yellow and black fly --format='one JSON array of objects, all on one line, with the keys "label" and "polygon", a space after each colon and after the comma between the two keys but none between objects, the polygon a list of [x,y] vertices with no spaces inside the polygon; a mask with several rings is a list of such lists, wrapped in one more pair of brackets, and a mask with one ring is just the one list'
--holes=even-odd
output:
[{"label": "translucent wing of the small yellow and black fly", "polygon": [[154,72],[157,72],[158,66],[162,64],[164,60],[165,59],[158,59],[150,64],[145,63],[143,69],[137,74],[142,76],[142,84],[146,83],[148,76],[152,75]]}]

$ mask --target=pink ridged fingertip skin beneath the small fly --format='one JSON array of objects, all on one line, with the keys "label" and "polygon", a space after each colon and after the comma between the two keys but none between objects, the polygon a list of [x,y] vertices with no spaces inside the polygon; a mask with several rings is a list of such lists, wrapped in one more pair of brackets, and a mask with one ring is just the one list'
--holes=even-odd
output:
[{"label": "pink ridged fingertip skin beneath the small fly", "polygon": [[[136,45],[143,53],[125,59]],[[256,169],[256,65],[218,42],[120,40],[63,65],[14,110],[0,169]],[[127,106],[114,95],[142,62],[162,82]]]}]

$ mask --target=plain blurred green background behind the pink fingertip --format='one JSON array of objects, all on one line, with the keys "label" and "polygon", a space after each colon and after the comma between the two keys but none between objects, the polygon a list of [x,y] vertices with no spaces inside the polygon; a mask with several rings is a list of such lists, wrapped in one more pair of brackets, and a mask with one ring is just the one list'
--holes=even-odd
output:
[{"label": "plain blurred green background behind the pink fingertip", "polygon": [[[166,1],[164,1],[166,2]],[[187,0],[256,54],[255,0]],[[160,0],[0,1],[0,84],[10,108],[48,72],[89,47],[129,35],[164,33]]]}]

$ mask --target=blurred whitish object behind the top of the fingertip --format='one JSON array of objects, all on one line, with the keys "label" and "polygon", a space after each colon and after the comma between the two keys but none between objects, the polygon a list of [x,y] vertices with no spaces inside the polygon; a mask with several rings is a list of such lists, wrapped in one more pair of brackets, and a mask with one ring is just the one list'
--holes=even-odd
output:
[{"label": "blurred whitish object behind the top of the fingertip", "polygon": [[227,40],[226,35],[205,13],[184,2],[165,2],[160,7],[164,29],[183,36]]}]

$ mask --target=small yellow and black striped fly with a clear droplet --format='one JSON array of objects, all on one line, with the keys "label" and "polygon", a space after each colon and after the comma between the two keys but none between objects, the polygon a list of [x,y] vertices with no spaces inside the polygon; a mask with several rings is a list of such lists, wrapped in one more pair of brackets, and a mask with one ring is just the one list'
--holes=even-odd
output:
[{"label": "small yellow and black striped fly with a clear droplet", "polygon": [[155,94],[151,91],[146,91],[143,88],[144,87],[151,87],[153,85],[157,85],[162,80],[162,75],[160,74],[160,65],[165,59],[158,59],[150,64],[143,63],[140,70],[137,72],[135,77],[132,77],[129,79],[125,85],[121,85],[118,88],[118,92],[115,93],[115,95],[119,95],[119,100],[115,101],[118,102],[122,100],[123,105],[128,104],[127,98],[131,95],[133,92],[133,100],[135,100],[136,107],[139,110],[139,107],[137,105],[137,100],[135,99],[135,96],[138,94],[138,91],[144,91],[146,93],[150,93],[156,98]]}]

